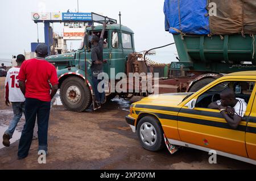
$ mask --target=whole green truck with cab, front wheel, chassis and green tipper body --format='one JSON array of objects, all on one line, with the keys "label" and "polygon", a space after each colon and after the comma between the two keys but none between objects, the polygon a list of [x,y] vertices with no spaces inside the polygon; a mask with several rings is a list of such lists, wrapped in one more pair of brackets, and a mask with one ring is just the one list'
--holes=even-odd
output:
[{"label": "whole green truck with cab, front wheel, chassis and green tipper body", "polygon": [[[135,52],[134,32],[126,26],[108,23],[104,36],[104,72],[110,77],[109,85],[110,81],[114,82],[114,85],[121,81],[116,78],[118,73],[141,73],[142,71],[152,73],[154,69],[151,69],[151,65],[148,65],[145,60],[138,61],[143,60],[143,57]],[[57,68],[61,102],[68,110],[81,112],[91,104],[94,107],[89,37],[92,33],[97,34],[101,30],[102,25],[88,27],[81,48],[76,52],[47,57],[47,60]],[[174,35],[179,61],[163,67],[164,75],[158,79],[157,85],[159,93],[197,91],[225,73],[255,70],[256,42],[254,39],[255,35],[245,37],[241,35],[211,37]],[[111,72],[112,68],[115,69],[114,75]],[[141,82],[139,83],[141,87]],[[129,84],[128,81],[127,84]],[[113,86],[109,86],[109,90],[105,90],[107,99],[116,95],[125,99],[133,95],[148,95],[147,90],[135,91],[135,85],[133,85],[134,90],[129,89],[129,93],[113,92],[112,88]]]}]

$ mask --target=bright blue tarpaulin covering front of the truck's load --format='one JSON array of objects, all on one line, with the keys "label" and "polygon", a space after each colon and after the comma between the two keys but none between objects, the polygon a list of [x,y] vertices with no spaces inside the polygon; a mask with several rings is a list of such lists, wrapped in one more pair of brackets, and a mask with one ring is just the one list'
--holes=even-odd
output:
[{"label": "bright blue tarpaulin covering front of the truck's load", "polygon": [[207,0],[165,0],[165,28],[170,33],[210,33]]}]

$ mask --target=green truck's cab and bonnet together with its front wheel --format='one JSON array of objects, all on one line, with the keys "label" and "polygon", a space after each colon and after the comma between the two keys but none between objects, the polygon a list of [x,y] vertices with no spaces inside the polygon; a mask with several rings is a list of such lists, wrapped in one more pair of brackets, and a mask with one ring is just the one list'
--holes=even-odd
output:
[{"label": "green truck's cab and bonnet together with its front wheel", "polygon": [[[90,66],[92,65],[90,39],[100,36],[102,25],[86,28],[84,40],[76,52],[48,56],[47,61],[55,65],[59,77],[60,98],[64,107],[71,111],[84,111],[92,104],[93,89]],[[104,72],[109,79],[126,72],[126,61],[135,52],[134,32],[119,24],[107,24],[104,33]],[[114,68],[114,74],[110,70]],[[106,96],[111,92],[105,90]]]}]

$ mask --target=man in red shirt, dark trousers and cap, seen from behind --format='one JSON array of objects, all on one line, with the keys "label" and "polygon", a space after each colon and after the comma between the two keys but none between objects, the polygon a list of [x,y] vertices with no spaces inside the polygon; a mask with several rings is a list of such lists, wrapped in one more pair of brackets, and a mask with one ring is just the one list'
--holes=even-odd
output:
[{"label": "man in red shirt, dark trousers and cap, seen from behind", "polygon": [[19,87],[24,94],[25,118],[19,140],[18,159],[27,157],[32,142],[36,117],[38,119],[38,150],[47,153],[47,134],[51,99],[58,89],[55,67],[44,58],[48,54],[46,44],[38,44],[36,57],[24,61],[18,75]]}]

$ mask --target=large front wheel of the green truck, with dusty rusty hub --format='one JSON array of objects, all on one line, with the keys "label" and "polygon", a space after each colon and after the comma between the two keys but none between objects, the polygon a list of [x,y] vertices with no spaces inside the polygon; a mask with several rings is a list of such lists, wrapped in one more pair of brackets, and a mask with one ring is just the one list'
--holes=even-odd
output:
[{"label": "large front wheel of the green truck, with dusty rusty hub", "polygon": [[69,77],[60,86],[60,99],[69,111],[82,112],[92,104],[90,88],[79,77]]}]

